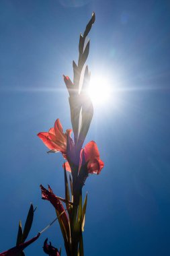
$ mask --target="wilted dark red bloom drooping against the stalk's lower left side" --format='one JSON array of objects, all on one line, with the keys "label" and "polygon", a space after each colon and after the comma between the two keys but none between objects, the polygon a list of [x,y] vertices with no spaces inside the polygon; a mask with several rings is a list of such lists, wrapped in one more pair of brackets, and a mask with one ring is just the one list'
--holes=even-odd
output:
[{"label": "wilted dark red bloom drooping against the stalk's lower left side", "polygon": [[64,230],[63,236],[68,240],[70,234],[69,227],[69,219],[67,217],[67,213],[65,212],[65,208],[63,207],[60,199],[54,195],[52,189],[48,185],[48,190],[45,189],[42,185],[40,185],[40,189],[42,190],[42,199],[50,201],[56,210],[56,215],[58,216],[58,221],[62,230]]}]

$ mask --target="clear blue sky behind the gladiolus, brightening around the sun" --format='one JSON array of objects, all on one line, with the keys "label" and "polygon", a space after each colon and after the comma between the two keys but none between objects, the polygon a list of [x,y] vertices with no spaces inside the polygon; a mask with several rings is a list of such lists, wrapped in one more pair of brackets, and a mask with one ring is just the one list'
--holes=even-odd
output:
[{"label": "clear blue sky behind the gladiolus, brightening around the sun", "polygon": [[[94,106],[86,139],[105,167],[84,187],[85,255],[170,254],[170,3],[155,0],[0,1],[0,251],[15,245],[30,202],[38,205],[30,237],[55,218],[41,183],[64,196],[62,156],[46,154],[36,134],[57,118],[71,128],[62,74],[73,77],[92,11],[87,63],[115,90]],[[26,255],[44,255],[46,237],[65,255],[58,224]]]}]

